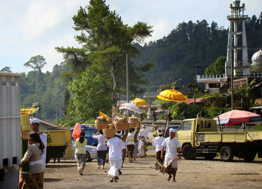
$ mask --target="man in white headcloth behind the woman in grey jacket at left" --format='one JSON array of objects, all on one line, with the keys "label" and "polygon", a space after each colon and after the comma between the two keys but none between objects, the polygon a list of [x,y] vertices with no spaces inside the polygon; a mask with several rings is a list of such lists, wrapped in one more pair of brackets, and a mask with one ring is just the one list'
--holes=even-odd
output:
[{"label": "man in white headcloth behind the woman in grey jacket at left", "polygon": [[[31,129],[34,131],[34,132],[37,132],[39,133],[39,120],[37,118],[34,118],[34,119],[31,119],[30,121],[30,126],[31,126]],[[45,169],[45,159],[46,159],[46,145],[47,145],[47,137],[46,137],[46,134],[45,133],[39,133],[40,135],[40,138],[42,140],[41,144],[39,145],[42,145],[43,149],[44,149],[44,152],[43,154],[41,155],[42,157],[42,164],[43,164],[43,167]]]}]

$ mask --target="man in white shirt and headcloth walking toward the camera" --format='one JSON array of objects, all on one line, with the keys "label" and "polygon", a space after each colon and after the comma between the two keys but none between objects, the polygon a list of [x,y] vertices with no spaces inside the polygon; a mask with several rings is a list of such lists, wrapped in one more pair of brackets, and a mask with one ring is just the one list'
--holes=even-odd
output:
[{"label": "man in white shirt and headcloth walking toward the camera", "polygon": [[[180,143],[177,138],[175,138],[176,130],[170,129],[169,130],[169,137],[165,138],[162,143],[161,149],[161,158],[164,159],[164,149],[166,147],[166,155],[165,155],[165,168],[163,170],[163,174],[167,173],[169,176],[167,177],[167,181],[171,179],[171,174],[173,175],[173,182],[176,182],[176,171],[178,168],[177,160],[181,160],[180,158],[180,150],[179,147]],[[178,157],[177,157],[178,154]]]}]

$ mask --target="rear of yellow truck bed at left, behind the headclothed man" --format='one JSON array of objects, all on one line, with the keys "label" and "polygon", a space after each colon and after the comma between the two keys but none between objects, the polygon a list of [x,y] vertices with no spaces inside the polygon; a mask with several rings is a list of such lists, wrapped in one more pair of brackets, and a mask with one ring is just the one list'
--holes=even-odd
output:
[{"label": "rear of yellow truck bed at left, behind the headclothed man", "polygon": [[[50,159],[56,158],[60,161],[60,158],[63,157],[65,153],[65,159],[71,157],[72,154],[72,144],[71,144],[71,131],[66,130],[48,130],[43,131],[45,134],[50,134],[52,142],[47,143],[46,149],[46,161],[48,163]],[[65,151],[66,150],[66,151]]]}]

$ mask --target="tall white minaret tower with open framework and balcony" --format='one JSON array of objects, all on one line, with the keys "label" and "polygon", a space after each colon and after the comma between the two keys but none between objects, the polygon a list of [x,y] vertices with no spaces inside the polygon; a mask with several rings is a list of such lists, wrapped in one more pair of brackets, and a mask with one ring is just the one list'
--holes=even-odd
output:
[{"label": "tall white minaret tower with open framework and balcony", "polygon": [[[240,0],[230,3],[231,15],[226,18],[229,20],[229,34],[227,45],[227,58],[225,63],[226,76],[231,76],[231,62],[233,62],[233,75],[250,75],[250,64],[247,55],[247,35],[245,20],[248,18],[244,15],[245,3],[240,6]],[[240,44],[242,42],[242,45]],[[239,44],[238,44],[239,43]],[[233,56],[233,57],[232,57]],[[242,69],[237,72],[237,69]]]}]

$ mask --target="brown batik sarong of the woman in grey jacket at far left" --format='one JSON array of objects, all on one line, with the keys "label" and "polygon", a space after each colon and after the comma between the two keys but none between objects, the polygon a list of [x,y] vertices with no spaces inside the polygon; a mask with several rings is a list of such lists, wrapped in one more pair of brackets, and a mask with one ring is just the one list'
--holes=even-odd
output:
[{"label": "brown batik sarong of the woman in grey jacket at far left", "polygon": [[22,186],[22,189],[43,189],[44,188],[44,172],[29,174]]}]

